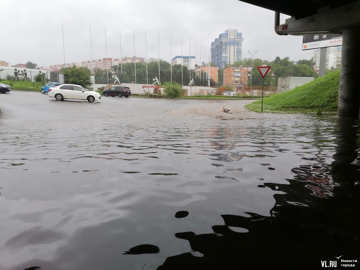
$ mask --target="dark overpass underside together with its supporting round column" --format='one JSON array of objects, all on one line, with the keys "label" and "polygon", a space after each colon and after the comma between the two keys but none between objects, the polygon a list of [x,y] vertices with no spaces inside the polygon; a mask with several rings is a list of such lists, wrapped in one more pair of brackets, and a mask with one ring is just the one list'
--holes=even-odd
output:
[{"label": "dark overpass underside together with its supporting round column", "polygon": [[[359,117],[360,1],[240,0],[275,11],[278,35],[342,34],[338,116]],[[280,25],[280,13],[290,15]]]}]

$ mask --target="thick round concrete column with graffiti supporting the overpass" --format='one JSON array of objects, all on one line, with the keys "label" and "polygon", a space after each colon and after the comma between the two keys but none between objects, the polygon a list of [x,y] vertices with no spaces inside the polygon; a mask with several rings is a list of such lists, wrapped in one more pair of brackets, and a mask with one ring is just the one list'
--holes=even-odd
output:
[{"label": "thick round concrete column with graffiti supporting the overpass", "polygon": [[360,27],[343,31],[338,116],[359,117]]}]

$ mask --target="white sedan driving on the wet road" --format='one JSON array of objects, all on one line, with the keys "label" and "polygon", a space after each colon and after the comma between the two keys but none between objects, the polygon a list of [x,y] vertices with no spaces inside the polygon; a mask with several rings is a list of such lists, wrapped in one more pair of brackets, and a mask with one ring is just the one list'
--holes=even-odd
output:
[{"label": "white sedan driving on the wet road", "polygon": [[101,95],[98,92],[87,90],[80,85],[62,84],[57,87],[50,87],[49,97],[56,100],[83,99],[91,103],[95,100],[100,100]]}]

